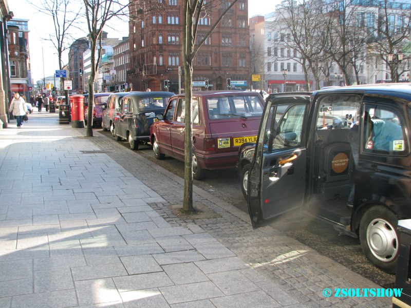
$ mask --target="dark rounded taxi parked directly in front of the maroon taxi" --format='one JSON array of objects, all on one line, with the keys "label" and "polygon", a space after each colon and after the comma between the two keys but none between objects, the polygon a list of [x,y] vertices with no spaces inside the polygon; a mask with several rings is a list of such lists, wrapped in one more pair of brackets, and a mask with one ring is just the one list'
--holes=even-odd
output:
[{"label": "dark rounded taxi parked directly in front of the maroon taxi", "polygon": [[137,150],[139,143],[150,140],[150,126],[163,113],[172,92],[128,92],[121,99],[121,111],[114,119],[117,141],[128,140],[130,148]]}]

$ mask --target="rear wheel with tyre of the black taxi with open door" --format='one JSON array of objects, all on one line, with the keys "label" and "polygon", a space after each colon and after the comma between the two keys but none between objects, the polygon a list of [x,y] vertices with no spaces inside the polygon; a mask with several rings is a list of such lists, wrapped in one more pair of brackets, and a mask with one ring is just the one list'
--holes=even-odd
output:
[{"label": "rear wheel with tyre of the black taxi with open door", "polygon": [[360,222],[360,242],[364,254],[387,273],[395,273],[398,257],[398,219],[384,206],[368,209]]}]

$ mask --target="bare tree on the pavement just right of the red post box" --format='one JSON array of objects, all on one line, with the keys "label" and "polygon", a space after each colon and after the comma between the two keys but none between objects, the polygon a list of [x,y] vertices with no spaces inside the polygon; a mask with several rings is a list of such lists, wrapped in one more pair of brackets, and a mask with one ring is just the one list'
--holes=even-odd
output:
[{"label": "bare tree on the pavement just right of the red post box", "polygon": [[98,71],[101,51],[103,28],[107,22],[118,15],[124,15],[128,5],[123,5],[114,0],[83,0],[85,18],[88,27],[88,39],[90,41],[91,72],[88,79],[88,106],[87,106],[87,128],[86,136],[92,137],[92,114],[94,105],[94,83]]}]

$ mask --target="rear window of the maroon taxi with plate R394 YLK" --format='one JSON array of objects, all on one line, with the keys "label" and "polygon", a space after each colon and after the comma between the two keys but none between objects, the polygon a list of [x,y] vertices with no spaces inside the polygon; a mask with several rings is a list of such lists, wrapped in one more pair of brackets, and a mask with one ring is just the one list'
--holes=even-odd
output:
[{"label": "rear window of the maroon taxi with plate R394 YLK", "polygon": [[263,104],[256,96],[235,96],[207,99],[210,119],[261,117]]}]

